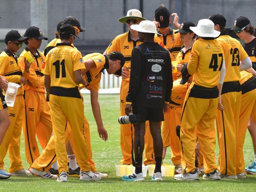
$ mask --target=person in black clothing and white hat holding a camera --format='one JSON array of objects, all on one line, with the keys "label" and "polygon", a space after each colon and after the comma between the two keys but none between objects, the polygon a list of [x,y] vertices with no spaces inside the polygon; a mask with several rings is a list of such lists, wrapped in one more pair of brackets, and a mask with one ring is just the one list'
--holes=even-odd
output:
[{"label": "person in black clothing and white hat holding a camera", "polygon": [[139,115],[140,122],[134,124],[135,173],[125,175],[122,179],[124,181],[144,180],[141,164],[145,121],[149,120],[156,159],[152,180],[161,181],[163,152],[161,121],[164,120],[163,110],[167,111],[168,109],[173,87],[171,58],[168,50],[154,42],[154,34],[157,32],[153,22],[145,20],[139,25],[132,25],[131,28],[139,31],[139,41],[143,41],[143,44],[132,50],[130,86],[126,97],[125,112]]}]

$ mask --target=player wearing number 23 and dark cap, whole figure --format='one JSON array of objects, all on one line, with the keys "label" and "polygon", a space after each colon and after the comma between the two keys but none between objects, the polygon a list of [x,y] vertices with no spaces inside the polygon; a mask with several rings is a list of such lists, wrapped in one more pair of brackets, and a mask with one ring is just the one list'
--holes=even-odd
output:
[{"label": "player wearing number 23 and dark cap, whole figure", "polygon": [[[252,63],[241,43],[228,35],[225,30],[226,19],[216,14],[209,17],[214,28],[221,34],[217,38],[225,55],[226,75],[221,92],[222,104],[225,110],[217,110],[217,133],[219,140],[220,177],[237,179],[245,177],[245,171],[236,172],[236,140],[239,127],[239,112],[241,105],[240,71],[252,67]],[[240,63],[241,61],[241,63]]]}]

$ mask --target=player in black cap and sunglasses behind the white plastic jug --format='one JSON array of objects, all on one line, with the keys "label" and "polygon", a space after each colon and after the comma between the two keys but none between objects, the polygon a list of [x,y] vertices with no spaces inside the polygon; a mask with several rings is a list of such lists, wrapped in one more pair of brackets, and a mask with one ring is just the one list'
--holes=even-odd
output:
[{"label": "player in black cap and sunglasses behind the white plastic jug", "polygon": [[[26,71],[23,72],[18,62],[18,57],[15,55],[15,52],[19,50],[22,46],[22,42],[26,39],[28,39],[28,37],[24,37],[17,30],[9,31],[4,40],[6,48],[0,54],[0,75],[4,76],[7,81],[20,85],[13,107],[8,107],[11,124],[4,136],[2,144],[0,144],[0,170],[5,172],[4,158],[8,150],[11,164],[9,172],[11,175],[31,175],[30,172],[25,170],[22,166],[20,158],[20,135],[25,107],[23,85],[26,84],[26,80],[28,79],[30,64],[26,62]],[[6,174],[9,173],[6,172]]]}]

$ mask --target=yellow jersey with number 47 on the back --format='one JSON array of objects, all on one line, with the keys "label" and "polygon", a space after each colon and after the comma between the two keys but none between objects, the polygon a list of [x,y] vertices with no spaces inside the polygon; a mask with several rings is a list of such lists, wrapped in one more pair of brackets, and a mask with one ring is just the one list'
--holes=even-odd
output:
[{"label": "yellow jersey with number 47 on the back", "polygon": [[194,74],[196,85],[215,87],[219,83],[223,60],[224,53],[217,39],[199,38],[192,46],[187,70]]}]

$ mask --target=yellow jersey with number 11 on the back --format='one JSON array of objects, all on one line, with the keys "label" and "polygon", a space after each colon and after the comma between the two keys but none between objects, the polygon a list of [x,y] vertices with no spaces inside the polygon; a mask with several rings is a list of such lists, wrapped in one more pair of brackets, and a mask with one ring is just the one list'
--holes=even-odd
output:
[{"label": "yellow jersey with number 11 on the back", "polygon": [[69,43],[58,43],[46,55],[42,73],[50,75],[51,87],[74,88],[79,87],[74,76],[79,69],[85,69],[81,52]]}]

